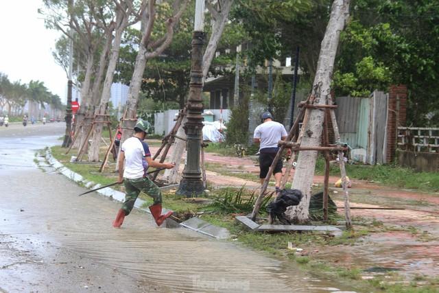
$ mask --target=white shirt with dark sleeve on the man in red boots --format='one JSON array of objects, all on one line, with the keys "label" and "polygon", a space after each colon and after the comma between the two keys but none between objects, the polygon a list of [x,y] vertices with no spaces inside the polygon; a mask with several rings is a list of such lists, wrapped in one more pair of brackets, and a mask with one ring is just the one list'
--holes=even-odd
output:
[{"label": "white shirt with dark sleeve on the man in red boots", "polygon": [[125,154],[123,177],[128,179],[142,178],[145,166],[145,156],[151,156],[146,143],[137,137],[130,137],[122,143],[121,151]]}]

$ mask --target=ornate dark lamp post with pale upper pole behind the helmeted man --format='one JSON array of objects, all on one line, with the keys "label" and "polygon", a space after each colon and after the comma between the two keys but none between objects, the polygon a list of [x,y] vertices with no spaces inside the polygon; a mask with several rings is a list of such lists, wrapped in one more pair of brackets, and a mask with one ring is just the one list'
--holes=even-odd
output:
[{"label": "ornate dark lamp post with pale upper pole behind the helmeted man", "polygon": [[187,163],[183,178],[176,194],[180,196],[199,196],[204,192],[201,169],[201,133],[202,133],[202,87],[203,87],[203,50],[204,45],[204,0],[195,2],[195,25],[192,36],[191,82],[187,101],[187,122],[184,126],[187,148]]}]

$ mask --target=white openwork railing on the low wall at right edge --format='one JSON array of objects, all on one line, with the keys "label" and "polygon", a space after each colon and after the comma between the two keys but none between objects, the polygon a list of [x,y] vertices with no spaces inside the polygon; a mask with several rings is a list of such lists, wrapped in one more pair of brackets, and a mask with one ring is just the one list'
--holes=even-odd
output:
[{"label": "white openwork railing on the low wall at right edge", "polygon": [[398,148],[413,152],[438,152],[439,128],[399,127]]}]

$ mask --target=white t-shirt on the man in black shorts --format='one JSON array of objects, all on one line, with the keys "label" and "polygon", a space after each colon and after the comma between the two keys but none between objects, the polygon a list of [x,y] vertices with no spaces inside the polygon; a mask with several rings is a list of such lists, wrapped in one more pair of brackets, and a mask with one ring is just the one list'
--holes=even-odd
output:
[{"label": "white t-shirt on the man in black shorts", "polygon": [[277,143],[287,136],[287,130],[276,121],[267,121],[254,130],[253,138],[261,139],[259,151],[264,148],[278,148]]}]

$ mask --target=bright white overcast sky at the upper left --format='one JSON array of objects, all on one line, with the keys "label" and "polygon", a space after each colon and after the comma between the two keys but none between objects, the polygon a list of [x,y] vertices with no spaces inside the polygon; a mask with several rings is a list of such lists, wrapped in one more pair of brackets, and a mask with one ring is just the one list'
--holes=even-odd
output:
[{"label": "bright white overcast sky at the upper left", "polygon": [[60,34],[44,27],[38,15],[40,0],[0,0],[0,72],[11,82],[44,82],[67,100],[67,76],[51,55]]}]

